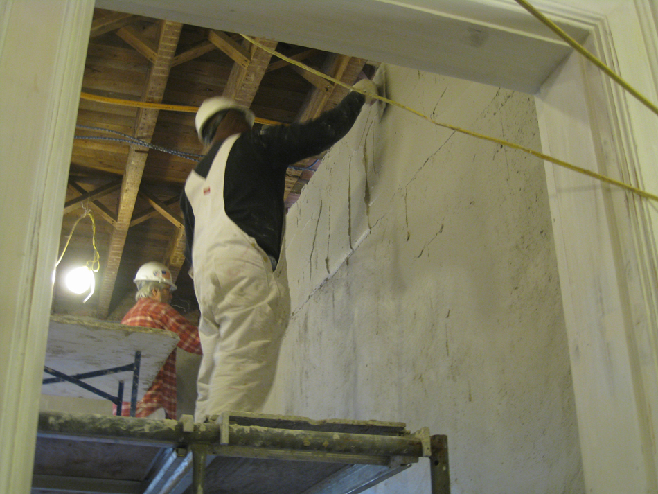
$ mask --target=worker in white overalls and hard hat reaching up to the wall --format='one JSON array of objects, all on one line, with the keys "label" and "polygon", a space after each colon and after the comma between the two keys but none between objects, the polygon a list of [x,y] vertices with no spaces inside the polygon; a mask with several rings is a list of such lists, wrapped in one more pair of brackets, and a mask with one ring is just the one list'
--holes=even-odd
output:
[{"label": "worker in white overalls and hard hat reaching up to the wall", "polygon": [[[355,87],[377,91],[366,79]],[[196,421],[263,406],[290,316],[286,168],[341,139],[364,103],[373,101],[351,92],[314,121],[260,128],[251,110],[226,98],[210,98],[199,108],[195,123],[208,151],[181,195],[186,256],[201,310]]]}]

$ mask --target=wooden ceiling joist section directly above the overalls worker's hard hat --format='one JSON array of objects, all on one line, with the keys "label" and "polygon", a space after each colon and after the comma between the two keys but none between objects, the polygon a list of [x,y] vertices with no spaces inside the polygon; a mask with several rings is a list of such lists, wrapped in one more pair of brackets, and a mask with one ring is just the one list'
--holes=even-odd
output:
[{"label": "wooden ceiling joist section directly above the overalls worker's hard hat", "polygon": [[[277,45],[277,42],[271,39],[258,39],[258,41],[267,48],[274,49]],[[251,107],[251,103],[254,102],[260,81],[263,80],[269,61],[272,60],[272,55],[258,48],[258,46],[251,45],[250,49],[251,62],[247,67],[241,67],[238,64],[233,65],[229,80],[226,81],[226,87],[224,88],[226,98],[231,98],[239,105],[244,105],[247,108]]]}]

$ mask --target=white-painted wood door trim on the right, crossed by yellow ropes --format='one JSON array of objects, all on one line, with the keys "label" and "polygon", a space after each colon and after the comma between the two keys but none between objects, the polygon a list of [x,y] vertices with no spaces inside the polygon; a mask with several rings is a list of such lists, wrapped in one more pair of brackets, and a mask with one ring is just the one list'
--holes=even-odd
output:
[{"label": "white-painted wood door trim on the right, crossed by yellow ropes", "polygon": [[[656,36],[640,24],[620,3],[587,47],[655,99]],[[544,152],[658,190],[658,119],[580,55],[544,84],[537,114]],[[655,492],[656,205],[553,166],[546,176],[587,489]]]}]

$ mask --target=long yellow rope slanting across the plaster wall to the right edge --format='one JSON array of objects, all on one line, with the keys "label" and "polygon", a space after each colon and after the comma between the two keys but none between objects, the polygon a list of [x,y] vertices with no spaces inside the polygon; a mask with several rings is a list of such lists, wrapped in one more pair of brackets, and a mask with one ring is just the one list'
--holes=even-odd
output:
[{"label": "long yellow rope slanting across the plaster wall to the right edge", "polygon": [[[264,46],[263,44],[260,44],[255,39],[253,39],[249,36],[242,35],[242,37],[244,37],[244,39],[247,39],[249,42],[251,42],[251,43],[255,44],[256,46],[258,46],[258,48],[261,48],[262,50],[265,50],[267,53],[271,53],[272,55],[276,55],[278,58],[281,58],[282,60],[285,60],[286,62],[288,62],[290,64],[294,64],[297,67],[301,67],[302,69],[304,69],[306,71],[309,71],[310,73],[314,73],[316,76],[320,76],[321,78],[324,78],[326,80],[334,82],[335,84],[337,84],[339,86],[346,87],[347,89],[350,89],[352,91],[356,91],[357,93],[366,95],[365,91],[362,91],[360,89],[354,89],[352,86],[350,86],[350,85],[346,84],[345,82],[342,82],[338,79],[332,78],[331,76],[328,76],[326,73],[322,73],[320,71],[312,69],[312,67],[308,67],[308,65],[305,65],[301,62],[293,60],[292,58],[288,58],[285,55],[283,55],[282,53],[278,53],[277,51],[274,51],[272,48],[268,48],[267,46]],[[573,165],[571,163],[568,163],[567,161],[562,161],[561,159],[553,158],[552,156],[549,156],[549,155],[544,155],[544,153],[542,153],[542,152],[535,151],[531,148],[526,148],[525,146],[522,146],[522,145],[519,145],[519,144],[511,143],[511,142],[504,141],[502,139],[497,139],[497,138],[491,137],[491,136],[486,136],[484,134],[478,134],[477,132],[472,132],[470,130],[465,130],[465,129],[462,129],[460,127],[456,127],[454,125],[450,125],[450,124],[447,124],[447,123],[437,122],[435,120],[432,120],[432,118],[429,118],[429,116],[427,116],[425,114],[422,114],[422,113],[416,111],[413,108],[402,105],[402,103],[398,103],[397,101],[389,100],[389,98],[385,98],[384,96],[379,96],[379,95],[376,95],[376,94],[367,94],[367,96],[371,96],[371,97],[373,97],[377,100],[381,100],[384,103],[387,103],[389,105],[393,105],[393,106],[405,109],[405,110],[407,110],[407,112],[411,112],[415,115],[418,115],[418,116],[420,116],[420,118],[423,118],[424,120],[426,120],[428,122],[434,123],[434,125],[438,125],[439,127],[445,127],[447,129],[454,130],[455,132],[460,132],[461,134],[466,134],[468,136],[476,137],[477,139],[483,139],[485,141],[490,141],[490,142],[493,142],[493,143],[497,143],[499,145],[505,145],[508,148],[513,148],[513,149],[516,149],[516,150],[519,150],[519,151],[526,152],[529,155],[533,155],[535,157],[544,159],[546,161],[550,161],[551,163],[556,164],[558,166],[562,166],[562,167],[567,168],[569,170],[573,170],[575,172],[582,173],[583,175],[588,175],[589,177],[598,179],[601,182],[605,182],[607,184],[612,184],[614,186],[621,187],[621,188],[623,188],[627,191],[630,191],[632,193],[635,193],[635,194],[639,195],[640,197],[645,197],[646,199],[651,199],[651,200],[655,200],[655,201],[658,202],[658,195],[643,191],[642,189],[634,187],[634,186],[629,185],[629,184],[626,184],[625,182],[620,182],[619,180],[607,177],[605,175],[601,175],[600,173],[596,173],[596,172],[587,170],[586,168],[581,168],[580,166]]]}]

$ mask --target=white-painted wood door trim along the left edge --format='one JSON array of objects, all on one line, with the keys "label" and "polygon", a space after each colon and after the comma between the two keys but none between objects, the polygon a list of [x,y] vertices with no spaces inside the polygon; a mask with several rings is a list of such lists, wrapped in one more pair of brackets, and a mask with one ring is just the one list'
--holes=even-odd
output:
[{"label": "white-painted wood door trim along the left edge", "polygon": [[3,493],[30,491],[53,270],[93,13],[91,0],[50,1],[48,8],[37,0],[11,2],[0,25],[0,113],[12,129],[0,136],[0,154],[3,163],[20,164],[9,174],[3,168],[0,181],[3,208],[12,211],[0,219]]}]

